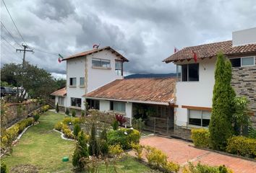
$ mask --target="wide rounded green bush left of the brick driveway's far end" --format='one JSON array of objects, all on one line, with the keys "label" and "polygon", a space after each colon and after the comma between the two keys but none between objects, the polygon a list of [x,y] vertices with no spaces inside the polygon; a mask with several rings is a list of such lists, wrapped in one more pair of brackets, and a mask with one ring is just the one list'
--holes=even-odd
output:
[{"label": "wide rounded green bush left of the brick driveway's far end", "polygon": [[130,149],[132,142],[139,143],[140,141],[140,132],[127,128],[109,131],[107,136],[109,145],[119,144],[123,149]]}]

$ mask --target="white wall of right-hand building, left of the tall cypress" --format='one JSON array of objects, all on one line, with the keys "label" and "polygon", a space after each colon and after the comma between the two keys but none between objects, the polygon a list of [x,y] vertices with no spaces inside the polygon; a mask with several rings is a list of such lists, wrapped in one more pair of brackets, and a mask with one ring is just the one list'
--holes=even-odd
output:
[{"label": "white wall of right-hand building, left of the tall cypress", "polygon": [[[183,61],[179,64],[194,63]],[[199,60],[199,81],[176,82],[176,125],[187,125],[187,109],[182,105],[212,107],[216,58]]]}]

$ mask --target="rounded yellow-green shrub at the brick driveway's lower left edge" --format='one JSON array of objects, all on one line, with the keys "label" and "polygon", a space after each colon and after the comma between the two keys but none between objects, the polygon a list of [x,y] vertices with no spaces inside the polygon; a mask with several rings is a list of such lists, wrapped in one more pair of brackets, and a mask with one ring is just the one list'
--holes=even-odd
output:
[{"label": "rounded yellow-green shrub at the brick driveway's lower left edge", "polygon": [[164,167],[167,162],[167,155],[164,154],[161,150],[158,150],[155,147],[146,146],[146,158],[148,159],[148,164],[153,167],[159,168]]}]

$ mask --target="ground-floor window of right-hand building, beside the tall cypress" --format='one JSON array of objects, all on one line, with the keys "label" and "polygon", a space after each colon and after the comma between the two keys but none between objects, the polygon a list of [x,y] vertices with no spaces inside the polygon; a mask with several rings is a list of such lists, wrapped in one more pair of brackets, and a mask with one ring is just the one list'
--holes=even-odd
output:
[{"label": "ground-floor window of right-hand building, beside the tall cypress", "polygon": [[205,110],[188,110],[189,125],[208,127],[210,123],[210,112]]}]

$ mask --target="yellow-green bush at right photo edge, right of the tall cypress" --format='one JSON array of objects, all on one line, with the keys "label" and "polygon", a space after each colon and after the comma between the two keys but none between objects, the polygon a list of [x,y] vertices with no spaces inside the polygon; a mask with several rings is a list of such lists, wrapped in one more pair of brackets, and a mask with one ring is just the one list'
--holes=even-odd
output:
[{"label": "yellow-green bush at right photo edge, right of the tall cypress", "polygon": [[234,136],[229,138],[226,151],[231,154],[241,156],[256,157],[256,139],[244,136]]}]

